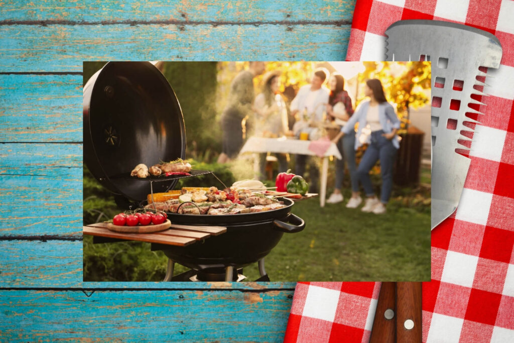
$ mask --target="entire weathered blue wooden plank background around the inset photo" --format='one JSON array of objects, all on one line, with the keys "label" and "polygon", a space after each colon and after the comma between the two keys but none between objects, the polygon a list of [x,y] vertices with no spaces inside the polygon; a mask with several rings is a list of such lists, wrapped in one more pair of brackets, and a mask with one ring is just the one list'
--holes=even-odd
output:
[{"label": "entire weathered blue wooden plank background around the inset photo", "polygon": [[295,283],[82,281],[82,61],[344,60],[354,4],[3,1],[2,340],[281,341]]}]

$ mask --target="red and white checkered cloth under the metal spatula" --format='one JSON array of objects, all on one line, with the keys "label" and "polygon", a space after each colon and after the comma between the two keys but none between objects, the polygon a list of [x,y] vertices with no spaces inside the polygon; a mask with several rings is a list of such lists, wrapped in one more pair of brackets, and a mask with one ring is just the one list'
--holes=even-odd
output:
[{"label": "red and white checkered cloth under the metal spatula", "polygon": [[[514,342],[514,1],[357,0],[346,60],[384,59],[399,20],[461,23],[501,42],[475,107],[471,166],[457,211],[432,230],[432,281],[423,283],[424,342]],[[401,280],[400,280],[401,281]],[[380,283],[298,283],[285,342],[367,342]]]}]

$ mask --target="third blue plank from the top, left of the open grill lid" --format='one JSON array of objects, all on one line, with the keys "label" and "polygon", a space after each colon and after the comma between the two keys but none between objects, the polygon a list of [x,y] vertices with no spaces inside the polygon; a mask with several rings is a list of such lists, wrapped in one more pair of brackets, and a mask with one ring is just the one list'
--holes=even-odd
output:
[{"label": "third blue plank from the top, left of the open grill lid", "polygon": [[28,141],[82,141],[82,75],[0,75],[0,142]]}]

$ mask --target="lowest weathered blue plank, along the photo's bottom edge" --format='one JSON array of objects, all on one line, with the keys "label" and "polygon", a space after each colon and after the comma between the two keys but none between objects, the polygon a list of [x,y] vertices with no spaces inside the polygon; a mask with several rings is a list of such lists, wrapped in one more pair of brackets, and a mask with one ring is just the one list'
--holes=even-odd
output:
[{"label": "lowest weathered blue plank, along the photo's bottom edge", "polygon": [[0,333],[6,342],[280,342],[291,295],[276,291],[0,291]]}]

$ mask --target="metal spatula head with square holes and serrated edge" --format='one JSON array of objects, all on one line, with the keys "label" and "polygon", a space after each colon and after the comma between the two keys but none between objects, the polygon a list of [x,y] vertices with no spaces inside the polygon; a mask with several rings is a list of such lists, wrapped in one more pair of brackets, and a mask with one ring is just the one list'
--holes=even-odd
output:
[{"label": "metal spatula head with square holes and serrated edge", "polygon": [[457,208],[470,159],[455,149],[464,149],[458,139],[470,131],[463,122],[468,104],[481,104],[472,94],[485,83],[480,66],[498,68],[502,47],[493,34],[455,23],[405,20],[386,30],[387,61],[432,62],[432,229]]}]

